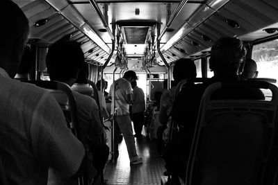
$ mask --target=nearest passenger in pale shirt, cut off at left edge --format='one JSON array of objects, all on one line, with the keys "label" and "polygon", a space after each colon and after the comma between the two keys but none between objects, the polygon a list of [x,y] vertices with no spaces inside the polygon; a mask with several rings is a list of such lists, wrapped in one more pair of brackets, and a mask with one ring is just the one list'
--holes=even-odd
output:
[{"label": "nearest passenger in pale shirt, cut off at left edge", "polygon": [[64,177],[79,170],[82,143],[49,91],[13,80],[28,39],[28,19],[13,3],[0,6],[0,150],[8,184],[47,184],[49,167]]}]

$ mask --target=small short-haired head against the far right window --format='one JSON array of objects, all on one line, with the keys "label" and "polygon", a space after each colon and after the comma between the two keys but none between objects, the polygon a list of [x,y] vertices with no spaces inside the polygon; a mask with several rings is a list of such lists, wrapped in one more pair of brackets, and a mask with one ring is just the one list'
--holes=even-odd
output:
[{"label": "small short-haired head against the far right window", "polygon": [[256,78],[258,76],[258,71],[256,71],[256,62],[251,58],[245,60],[243,73],[241,74],[241,79]]}]

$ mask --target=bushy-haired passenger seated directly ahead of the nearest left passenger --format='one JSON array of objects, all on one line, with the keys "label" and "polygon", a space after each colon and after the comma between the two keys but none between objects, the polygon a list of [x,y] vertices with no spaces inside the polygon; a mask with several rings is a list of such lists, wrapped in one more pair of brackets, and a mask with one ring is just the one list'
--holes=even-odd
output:
[{"label": "bushy-haired passenger seated directly ahead of the nearest left passenger", "polygon": [[[50,46],[46,62],[51,80],[72,86],[85,61],[79,43],[58,40]],[[99,119],[99,108],[93,98],[76,91],[72,92],[76,98],[80,132],[85,137],[85,150],[87,153],[92,152],[94,167],[100,173],[108,159],[109,149],[102,141],[104,130]]]}]

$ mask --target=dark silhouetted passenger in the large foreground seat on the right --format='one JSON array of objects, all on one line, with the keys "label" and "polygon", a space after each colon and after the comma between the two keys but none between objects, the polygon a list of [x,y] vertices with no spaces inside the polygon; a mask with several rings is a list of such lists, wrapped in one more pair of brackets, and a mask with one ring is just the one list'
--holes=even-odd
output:
[{"label": "dark silhouetted passenger in the large foreground seat on the right", "polygon": [[[214,72],[213,78],[193,87],[181,90],[173,106],[173,118],[179,125],[179,136],[175,143],[177,156],[175,164],[183,164],[183,169],[175,171],[179,177],[185,178],[186,163],[190,153],[190,147],[195,132],[195,124],[199,112],[199,103],[204,90],[214,82],[238,82],[239,75],[243,71],[243,60],[246,49],[240,39],[234,37],[222,37],[211,48],[209,66]],[[259,99],[264,100],[264,95],[259,89],[231,89],[229,87],[215,91],[214,99]],[[183,146],[183,147],[181,147]],[[177,169],[177,168],[174,168]]]}]

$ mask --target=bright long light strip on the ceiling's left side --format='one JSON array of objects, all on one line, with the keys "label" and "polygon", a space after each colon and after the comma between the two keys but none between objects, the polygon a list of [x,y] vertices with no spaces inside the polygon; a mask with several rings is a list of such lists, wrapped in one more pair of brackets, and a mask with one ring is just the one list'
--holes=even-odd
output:
[{"label": "bright long light strip on the ceiling's left side", "polygon": [[95,44],[97,44],[101,49],[103,49],[106,53],[111,53],[111,49],[107,46],[107,44],[97,35],[88,24],[84,24],[81,29],[84,31],[85,35],[90,37]]}]

